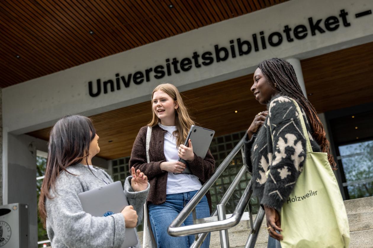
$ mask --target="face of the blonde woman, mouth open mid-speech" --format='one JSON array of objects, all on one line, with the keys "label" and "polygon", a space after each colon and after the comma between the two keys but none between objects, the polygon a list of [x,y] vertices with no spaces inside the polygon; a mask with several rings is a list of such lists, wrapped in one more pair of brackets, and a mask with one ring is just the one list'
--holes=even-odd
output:
[{"label": "face of the blonde woman, mouth open mid-speech", "polygon": [[177,101],[173,100],[162,90],[153,93],[153,111],[165,126],[175,126],[175,110],[178,108]]}]

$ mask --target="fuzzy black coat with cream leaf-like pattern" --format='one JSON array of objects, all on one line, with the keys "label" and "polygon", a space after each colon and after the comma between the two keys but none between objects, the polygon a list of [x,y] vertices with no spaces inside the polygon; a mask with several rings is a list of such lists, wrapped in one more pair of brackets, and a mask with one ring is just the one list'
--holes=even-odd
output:
[{"label": "fuzzy black coat with cream leaf-like pattern", "polygon": [[[269,115],[259,131],[250,141],[246,135],[244,151],[248,170],[253,174],[253,195],[259,197],[261,205],[280,211],[303,170],[306,138],[314,152],[320,152],[320,146],[312,138],[304,110],[300,106],[303,116],[299,116],[289,97],[275,95],[267,109]],[[303,136],[300,117],[307,126],[308,137]]]}]

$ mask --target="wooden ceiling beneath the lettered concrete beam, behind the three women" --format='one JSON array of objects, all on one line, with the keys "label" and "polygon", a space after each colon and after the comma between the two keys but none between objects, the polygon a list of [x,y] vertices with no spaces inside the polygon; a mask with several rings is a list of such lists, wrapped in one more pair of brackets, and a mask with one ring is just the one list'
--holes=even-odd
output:
[{"label": "wooden ceiling beneath the lettered concrete beam, behind the three women", "polygon": [[[373,42],[301,61],[310,102],[319,113],[373,101]],[[191,116],[216,136],[248,128],[256,113],[266,109],[254,99],[253,74],[184,91]],[[238,112],[235,113],[234,111]],[[151,103],[139,103],[91,116],[105,159],[131,154],[138,130],[151,118]],[[48,140],[50,128],[28,133]],[[112,141],[112,142],[109,142]]]}]

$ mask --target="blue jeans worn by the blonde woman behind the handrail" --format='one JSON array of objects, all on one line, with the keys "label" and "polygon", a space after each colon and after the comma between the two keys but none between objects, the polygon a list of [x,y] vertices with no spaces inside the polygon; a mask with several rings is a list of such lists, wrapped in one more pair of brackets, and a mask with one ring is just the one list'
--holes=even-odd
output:
[{"label": "blue jeans worn by the blonde woman behind the handrail", "polygon": [[[166,202],[155,205],[149,204],[149,219],[151,230],[157,242],[158,248],[188,248],[195,240],[194,235],[173,237],[168,235],[167,228],[171,222],[178,216],[181,210],[192,199],[198,190],[189,191],[178,194],[167,194]],[[207,197],[204,196],[195,207],[197,219],[210,217],[209,203]],[[188,226],[193,224],[192,213],[186,218],[181,226]],[[202,248],[210,246],[210,233],[207,235],[205,241],[201,245]]]}]

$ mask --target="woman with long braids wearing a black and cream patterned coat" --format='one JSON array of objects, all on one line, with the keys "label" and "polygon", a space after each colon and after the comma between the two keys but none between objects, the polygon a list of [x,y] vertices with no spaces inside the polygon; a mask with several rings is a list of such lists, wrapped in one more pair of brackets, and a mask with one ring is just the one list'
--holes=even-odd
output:
[{"label": "woman with long braids wearing a black and cream patterned coat", "polygon": [[[255,99],[267,110],[258,113],[247,130],[244,151],[253,174],[253,194],[264,208],[269,232],[268,247],[280,247],[283,236],[280,210],[299,177],[306,157],[304,119],[314,152],[326,152],[333,169],[335,162],[316,110],[304,96],[292,65],[280,58],[260,62],[251,86]],[[300,106],[302,116],[298,115]],[[270,169],[270,171],[269,171]]]}]

